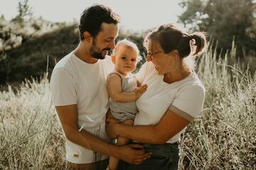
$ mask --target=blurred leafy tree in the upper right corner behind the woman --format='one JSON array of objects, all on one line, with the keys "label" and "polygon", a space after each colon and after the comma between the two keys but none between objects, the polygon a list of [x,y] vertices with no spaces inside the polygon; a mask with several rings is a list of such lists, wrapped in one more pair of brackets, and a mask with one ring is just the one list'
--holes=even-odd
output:
[{"label": "blurred leafy tree in the upper right corner behind the woman", "polygon": [[255,0],[184,0],[180,4],[186,11],[179,21],[190,30],[204,30],[218,47],[231,48],[235,39],[237,54],[256,49]]}]

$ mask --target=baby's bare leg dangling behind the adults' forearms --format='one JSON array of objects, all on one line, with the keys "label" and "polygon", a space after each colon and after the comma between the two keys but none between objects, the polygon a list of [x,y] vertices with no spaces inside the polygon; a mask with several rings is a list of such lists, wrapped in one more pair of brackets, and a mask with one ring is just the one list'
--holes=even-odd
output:
[{"label": "baby's bare leg dangling behind the adults' forearms", "polygon": [[[124,125],[133,125],[134,120],[132,119],[127,119],[124,120],[124,122],[122,122],[121,124]],[[129,142],[129,139],[125,138],[125,137],[117,137],[117,146],[122,146],[122,145],[127,145],[127,143]],[[118,167],[118,163],[119,163],[119,159],[115,158],[115,157],[110,157],[110,164],[109,164],[109,168],[111,170],[116,170]]]}]

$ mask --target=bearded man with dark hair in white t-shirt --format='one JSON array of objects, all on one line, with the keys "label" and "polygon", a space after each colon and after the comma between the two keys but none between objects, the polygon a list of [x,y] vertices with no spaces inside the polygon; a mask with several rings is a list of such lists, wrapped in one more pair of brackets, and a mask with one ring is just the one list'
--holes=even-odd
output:
[{"label": "bearded man with dark hair in white t-shirt", "polygon": [[105,132],[106,77],[113,69],[107,53],[114,49],[118,23],[119,16],[107,6],[85,9],[78,47],[53,69],[50,89],[66,137],[68,169],[106,169],[107,155],[132,164],[149,157],[140,145],[111,145]]}]

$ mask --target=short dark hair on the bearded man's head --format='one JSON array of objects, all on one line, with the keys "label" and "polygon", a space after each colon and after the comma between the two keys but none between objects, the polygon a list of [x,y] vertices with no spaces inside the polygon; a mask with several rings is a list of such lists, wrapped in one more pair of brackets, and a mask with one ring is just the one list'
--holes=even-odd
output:
[{"label": "short dark hair on the bearded man's head", "polygon": [[99,4],[86,8],[80,18],[80,40],[85,39],[83,36],[85,31],[88,31],[92,38],[95,38],[102,28],[102,23],[117,24],[119,23],[119,15],[114,13],[110,7]]}]

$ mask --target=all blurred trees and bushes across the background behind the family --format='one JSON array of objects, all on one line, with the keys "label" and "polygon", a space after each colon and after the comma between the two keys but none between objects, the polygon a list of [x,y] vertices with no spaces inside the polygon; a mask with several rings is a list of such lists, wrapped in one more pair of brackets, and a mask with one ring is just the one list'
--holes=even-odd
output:
[{"label": "all blurred trees and bushes across the background behind the family", "polygon": [[[186,11],[179,22],[191,31],[206,31],[218,40],[219,52],[229,50],[233,38],[238,57],[255,52],[255,0],[183,0],[180,5]],[[121,28],[117,40],[122,38],[134,40],[144,56],[142,32]],[[15,18],[6,21],[0,16],[0,85],[39,78],[47,67],[51,73],[55,63],[78,42],[78,22],[53,23],[34,18],[28,0],[20,1]]]}]

